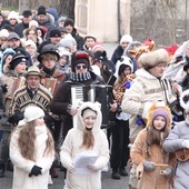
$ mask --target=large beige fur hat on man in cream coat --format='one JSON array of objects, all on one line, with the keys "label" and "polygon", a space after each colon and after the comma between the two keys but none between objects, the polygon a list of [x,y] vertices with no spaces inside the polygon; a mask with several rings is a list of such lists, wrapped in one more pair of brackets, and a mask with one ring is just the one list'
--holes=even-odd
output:
[{"label": "large beige fur hat on man in cream coat", "polygon": [[139,57],[138,62],[146,70],[149,70],[149,69],[158,66],[159,63],[166,63],[167,64],[169,62],[169,54],[168,54],[167,50],[158,49],[158,50],[155,50],[152,52],[142,53]]}]

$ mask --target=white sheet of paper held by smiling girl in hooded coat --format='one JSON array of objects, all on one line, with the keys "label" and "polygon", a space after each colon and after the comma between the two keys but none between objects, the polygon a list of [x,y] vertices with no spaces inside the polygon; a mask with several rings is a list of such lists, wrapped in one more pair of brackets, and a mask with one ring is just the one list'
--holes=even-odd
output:
[{"label": "white sheet of paper held by smiling girl in hooded coat", "polygon": [[78,153],[74,158],[74,172],[73,173],[91,173],[91,170],[87,168],[87,165],[93,165],[97,160],[97,153],[93,151],[84,151]]}]

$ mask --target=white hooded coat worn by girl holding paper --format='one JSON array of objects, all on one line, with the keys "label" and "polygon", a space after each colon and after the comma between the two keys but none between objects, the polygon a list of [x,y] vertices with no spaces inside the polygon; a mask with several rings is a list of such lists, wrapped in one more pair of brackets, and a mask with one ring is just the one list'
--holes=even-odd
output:
[{"label": "white hooded coat worn by girl holding paper", "polygon": [[94,137],[94,146],[92,150],[98,155],[98,158],[94,162],[98,171],[92,171],[90,175],[74,175],[67,171],[67,185],[68,189],[101,189],[101,169],[109,161],[109,147],[108,140],[105,132],[100,129],[101,126],[101,112],[97,108],[97,105],[87,102],[79,109],[77,113],[77,127],[72,128],[61,147],[60,159],[62,165],[68,168],[70,162],[74,160],[74,157],[83,151],[87,151],[84,147],[80,147],[82,145],[82,136],[84,123],[81,116],[83,109],[90,107],[92,110],[97,112],[97,119],[94,121],[92,133]]}]

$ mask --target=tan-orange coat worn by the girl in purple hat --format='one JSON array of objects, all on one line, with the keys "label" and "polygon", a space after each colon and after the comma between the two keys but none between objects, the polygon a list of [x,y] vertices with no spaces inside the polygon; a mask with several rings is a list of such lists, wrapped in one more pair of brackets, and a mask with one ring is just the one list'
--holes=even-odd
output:
[{"label": "tan-orange coat worn by the girl in purple hat", "polygon": [[135,165],[137,165],[137,170],[141,171],[140,180],[138,182],[138,189],[169,189],[169,179],[160,175],[161,170],[166,167],[156,167],[153,171],[148,172],[143,170],[142,161],[152,161],[160,165],[169,165],[172,168],[175,162],[175,157],[163,158],[162,146],[151,145],[149,156],[147,153],[147,129],[142,129],[133,142],[133,148],[131,150],[131,159]]}]

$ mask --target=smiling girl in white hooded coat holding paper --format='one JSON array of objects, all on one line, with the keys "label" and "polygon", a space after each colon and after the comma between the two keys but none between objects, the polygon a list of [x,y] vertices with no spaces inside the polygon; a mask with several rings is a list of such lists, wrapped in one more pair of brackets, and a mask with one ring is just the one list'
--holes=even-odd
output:
[{"label": "smiling girl in white hooded coat holding paper", "polygon": [[[97,103],[83,102],[77,113],[77,127],[69,130],[60,151],[60,160],[67,168],[68,189],[101,189],[101,169],[109,161],[109,147],[100,129],[101,111]],[[90,173],[77,173],[74,160],[81,152],[93,152],[94,163],[87,163]]]}]

